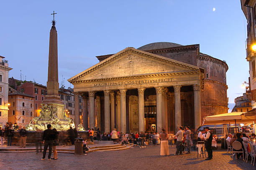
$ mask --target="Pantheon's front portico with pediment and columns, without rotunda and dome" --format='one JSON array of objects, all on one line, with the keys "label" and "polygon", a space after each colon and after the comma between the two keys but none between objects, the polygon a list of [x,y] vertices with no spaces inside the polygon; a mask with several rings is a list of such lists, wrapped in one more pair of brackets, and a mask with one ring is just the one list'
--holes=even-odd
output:
[{"label": "Pantheon's front portico with pediment and columns, without rotunda and dome", "polygon": [[203,73],[194,65],[128,47],[68,81],[74,92],[89,95],[90,128],[106,133],[114,128],[123,133],[177,131],[181,125],[201,125]]}]

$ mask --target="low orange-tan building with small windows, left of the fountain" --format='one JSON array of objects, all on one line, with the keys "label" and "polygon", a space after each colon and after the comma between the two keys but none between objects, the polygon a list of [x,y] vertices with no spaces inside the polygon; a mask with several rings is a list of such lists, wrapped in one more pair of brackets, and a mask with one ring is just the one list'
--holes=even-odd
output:
[{"label": "low orange-tan building with small windows, left of the fountain", "polygon": [[34,118],[34,97],[20,92],[9,93],[8,122],[28,125]]}]

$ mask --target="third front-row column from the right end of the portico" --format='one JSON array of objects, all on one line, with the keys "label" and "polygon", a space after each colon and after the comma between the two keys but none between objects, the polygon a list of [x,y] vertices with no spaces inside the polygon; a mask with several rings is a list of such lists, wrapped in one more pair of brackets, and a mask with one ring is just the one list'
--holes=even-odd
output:
[{"label": "third front-row column from the right end of the portico", "polygon": [[161,132],[163,128],[163,119],[162,119],[162,91],[163,87],[156,88],[156,132]]}]

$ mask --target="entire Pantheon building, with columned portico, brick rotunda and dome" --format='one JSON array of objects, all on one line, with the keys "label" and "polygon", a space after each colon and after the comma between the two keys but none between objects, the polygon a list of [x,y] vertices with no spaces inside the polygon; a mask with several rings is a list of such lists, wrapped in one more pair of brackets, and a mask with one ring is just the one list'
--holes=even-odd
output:
[{"label": "entire Pantheon building, with columned portico, brick rotunda and dome", "polygon": [[[177,132],[228,112],[228,65],[200,45],[155,42],[97,56],[96,65],[68,79],[75,103],[83,97],[84,128],[111,132]],[[76,102],[77,100],[77,102]],[[75,104],[74,123],[80,123]]]}]

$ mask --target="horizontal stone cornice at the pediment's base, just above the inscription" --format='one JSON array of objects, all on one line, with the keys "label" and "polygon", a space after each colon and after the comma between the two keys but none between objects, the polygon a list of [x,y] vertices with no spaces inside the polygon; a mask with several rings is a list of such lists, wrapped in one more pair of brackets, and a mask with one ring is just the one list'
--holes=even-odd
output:
[{"label": "horizontal stone cornice at the pediment's base, just above the inscription", "polygon": [[101,79],[91,79],[91,80],[71,80],[73,84],[78,83],[88,83],[88,82],[102,82],[102,81],[116,81],[116,80],[135,80],[143,78],[161,78],[161,77],[175,77],[175,76],[187,76],[187,75],[199,75],[200,71],[189,71],[189,72],[169,72],[160,74],[148,74],[148,75],[135,75],[135,76],[125,76],[125,77],[112,77],[112,78],[101,78]]}]

